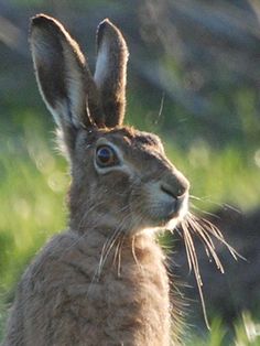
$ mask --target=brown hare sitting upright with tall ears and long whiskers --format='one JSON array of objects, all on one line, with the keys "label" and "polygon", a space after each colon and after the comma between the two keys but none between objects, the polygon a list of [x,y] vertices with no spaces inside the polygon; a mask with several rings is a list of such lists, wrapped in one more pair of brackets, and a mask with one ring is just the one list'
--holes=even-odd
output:
[{"label": "brown hare sitting upright with tall ears and long whiskers", "polygon": [[[23,274],[3,345],[169,346],[177,326],[155,235],[184,220],[189,184],[156,136],[122,125],[124,39],[109,20],[99,24],[94,77],[55,19],[33,18],[30,42],[71,163],[71,217]],[[185,220],[183,227],[196,272]]]}]

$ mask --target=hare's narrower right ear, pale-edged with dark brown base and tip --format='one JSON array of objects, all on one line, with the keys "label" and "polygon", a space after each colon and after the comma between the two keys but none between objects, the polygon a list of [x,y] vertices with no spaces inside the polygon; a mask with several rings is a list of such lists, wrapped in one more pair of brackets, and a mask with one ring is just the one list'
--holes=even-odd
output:
[{"label": "hare's narrower right ear, pale-edged with dark brown base and tip", "polygon": [[101,95],[105,125],[121,125],[126,108],[128,47],[121,32],[108,20],[97,31],[97,65],[94,79]]}]

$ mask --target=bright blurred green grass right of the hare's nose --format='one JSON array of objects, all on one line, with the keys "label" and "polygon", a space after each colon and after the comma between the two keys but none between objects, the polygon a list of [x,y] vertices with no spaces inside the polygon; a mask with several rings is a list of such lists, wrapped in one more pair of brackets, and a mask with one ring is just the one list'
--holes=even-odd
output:
[{"label": "bright blurred green grass right of the hare's nose", "polygon": [[224,202],[247,212],[260,203],[260,184],[254,152],[225,147],[215,151],[206,142],[192,144],[187,152],[166,142],[169,156],[187,175],[192,194],[202,209],[216,209]]}]

